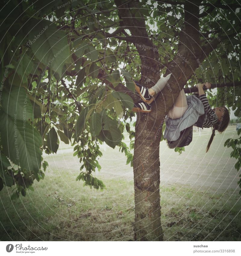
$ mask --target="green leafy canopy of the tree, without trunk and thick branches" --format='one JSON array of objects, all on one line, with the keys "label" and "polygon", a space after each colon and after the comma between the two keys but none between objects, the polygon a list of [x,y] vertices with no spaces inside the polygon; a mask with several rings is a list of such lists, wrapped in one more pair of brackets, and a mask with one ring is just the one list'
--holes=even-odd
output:
[{"label": "green leafy canopy of the tree, without trunk and thick branches", "polygon": [[[178,54],[184,25],[183,5],[167,2],[142,0],[138,9],[130,8],[136,20],[146,21],[148,36],[158,49],[161,74]],[[230,11],[219,4],[212,9],[203,2],[200,47],[215,38],[220,40],[188,84],[205,79],[211,83],[240,81],[239,8]],[[131,109],[136,100],[132,80],[140,79],[142,62],[137,47],[146,46],[128,40],[130,31],[122,28],[114,1],[3,3],[0,190],[15,184],[15,198],[20,192],[25,195],[27,188],[33,189],[34,179],[42,179],[48,166],[42,151],[56,153],[60,140],[75,146],[74,156],[81,165],[77,180],[105,188],[92,176],[92,171],[101,169],[99,144],[118,146],[125,152],[127,164],[132,165],[135,132],[130,121],[135,116]],[[240,117],[240,88],[229,87],[226,93],[224,96],[223,88],[210,92],[210,104],[226,103]],[[130,147],[122,141],[123,132],[129,134]],[[239,159],[235,166],[239,169],[240,139],[230,145],[234,149],[231,156]]]}]

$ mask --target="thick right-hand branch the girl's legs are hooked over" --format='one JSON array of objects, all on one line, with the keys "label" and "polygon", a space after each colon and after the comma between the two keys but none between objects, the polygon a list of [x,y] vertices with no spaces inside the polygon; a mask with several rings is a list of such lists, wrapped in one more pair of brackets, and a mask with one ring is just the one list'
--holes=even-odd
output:
[{"label": "thick right-hand branch the girl's legs are hooked over", "polygon": [[[179,55],[176,55],[168,64],[167,74],[172,74],[168,84],[161,93],[156,97],[156,108],[154,107],[150,116],[154,117],[160,115],[163,119],[166,113],[173,106],[180,89],[183,89],[186,82],[192,76],[194,70],[198,68],[198,59],[205,58],[202,56],[202,48],[200,47],[200,27],[199,27],[199,7],[195,3],[186,1],[184,4],[184,25],[180,32],[180,40],[178,44],[178,53],[180,56],[186,58],[188,63],[184,61]],[[202,57],[202,58],[201,58]],[[171,94],[171,95],[170,95]],[[155,96],[154,96],[155,97]],[[165,102],[165,104],[163,104]],[[154,105],[154,104],[153,104]]]}]

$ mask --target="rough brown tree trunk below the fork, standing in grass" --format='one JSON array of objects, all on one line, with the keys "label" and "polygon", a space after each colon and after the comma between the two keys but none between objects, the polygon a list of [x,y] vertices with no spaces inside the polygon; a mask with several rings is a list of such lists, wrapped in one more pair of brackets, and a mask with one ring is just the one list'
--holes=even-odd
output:
[{"label": "rough brown tree trunk below the fork, standing in grass", "polygon": [[135,241],[163,241],[159,161],[161,129],[159,127],[160,124],[157,125],[157,122],[154,124],[149,122],[148,114],[140,115],[140,117],[137,116],[139,122],[136,122],[133,158],[135,190],[134,239]]}]

